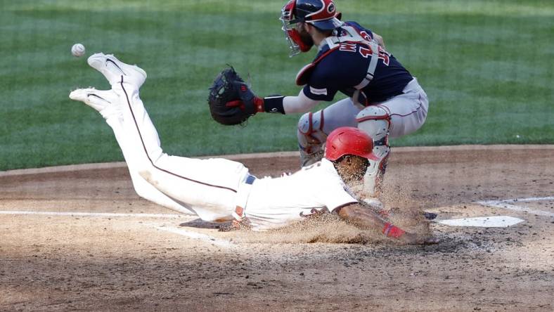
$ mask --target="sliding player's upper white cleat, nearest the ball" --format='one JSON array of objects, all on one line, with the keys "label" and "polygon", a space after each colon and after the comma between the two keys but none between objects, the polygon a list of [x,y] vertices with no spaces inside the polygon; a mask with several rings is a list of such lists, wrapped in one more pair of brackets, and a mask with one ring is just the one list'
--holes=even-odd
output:
[{"label": "sliding player's upper white cleat, nearest the ball", "polygon": [[96,53],[89,56],[87,62],[101,72],[110,85],[123,81],[140,88],[146,80],[146,72],[141,67],[125,64],[112,54]]}]

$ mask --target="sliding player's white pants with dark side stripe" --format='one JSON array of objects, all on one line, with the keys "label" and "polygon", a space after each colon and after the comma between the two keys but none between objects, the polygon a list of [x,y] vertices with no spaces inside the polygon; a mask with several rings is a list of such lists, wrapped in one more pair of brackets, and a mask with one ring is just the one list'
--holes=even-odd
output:
[{"label": "sliding player's white pants with dark side stripe", "polygon": [[205,221],[231,220],[237,206],[245,207],[251,186],[245,183],[250,174],[243,164],[224,159],[198,160],[167,155],[160,147],[155,126],[139,98],[139,89],[125,82],[114,84],[112,89],[120,98],[122,119],[109,118],[107,122],[129,164],[131,176],[138,172],[155,187],[142,188],[141,196],[160,198],[160,193],[156,192],[161,192],[182,206],[174,207],[175,204],[169,202],[173,207],[164,204],[166,207],[181,212],[191,210]]}]

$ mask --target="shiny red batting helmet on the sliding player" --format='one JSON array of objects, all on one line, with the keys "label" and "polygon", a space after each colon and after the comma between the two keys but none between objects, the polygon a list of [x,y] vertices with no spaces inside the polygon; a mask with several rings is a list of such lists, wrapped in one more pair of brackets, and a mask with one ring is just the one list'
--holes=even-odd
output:
[{"label": "shiny red batting helmet on the sliding player", "polygon": [[344,155],[356,155],[368,160],[379,160],[373,155],[373,139],[365,132],[352,126],[342,126],[329,134],[325,146],[325,157],[330,161]]}]

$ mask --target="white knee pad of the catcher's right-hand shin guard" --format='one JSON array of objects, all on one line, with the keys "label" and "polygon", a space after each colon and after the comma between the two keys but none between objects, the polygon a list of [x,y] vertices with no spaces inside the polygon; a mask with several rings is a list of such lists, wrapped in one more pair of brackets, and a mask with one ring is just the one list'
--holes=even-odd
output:
[{"label": "white knee pad of the catcher's right-hand shin guard", "polygon": [[356,115],[358,128],[366,132],[373,141],[386,138],[390,130],[390,116],[387,110],[379,106],[368,106]]}]

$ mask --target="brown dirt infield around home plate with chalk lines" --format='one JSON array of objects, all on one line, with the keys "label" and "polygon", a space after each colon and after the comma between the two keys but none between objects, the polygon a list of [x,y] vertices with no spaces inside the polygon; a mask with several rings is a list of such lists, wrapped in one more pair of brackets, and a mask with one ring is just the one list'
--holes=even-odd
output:
[{"label": "brown dirt infield around home plate with chalk lines", "polygon": [[[296,153],[236,155],[258,176]],[[135,195],[124,164],[0,172],[0,311],[552,311],[554,145],[395,148],[387,207],[439,219],[442,242],[356,229],[220,233]],[[515,200],[517,199],[517,200]]]}]

